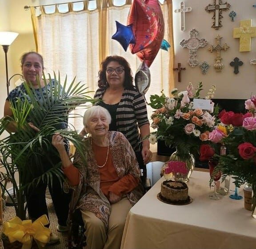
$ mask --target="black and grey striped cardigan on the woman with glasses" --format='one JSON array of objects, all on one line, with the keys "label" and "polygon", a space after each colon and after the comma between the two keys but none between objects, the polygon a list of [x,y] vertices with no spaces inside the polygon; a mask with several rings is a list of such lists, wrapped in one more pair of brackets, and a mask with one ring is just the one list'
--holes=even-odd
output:
[{"label": "black and grey striped cardigan on the woman with glasses", "polygon": [[[102,99],[105,90],[105,88],[97,89],[94,98]],[[144,124],[149,124],[144,97],[137,89],[124,89],[116,109],[116,126],[117,131],[124,134],[135,152],[140,151],[139,127]]]}]

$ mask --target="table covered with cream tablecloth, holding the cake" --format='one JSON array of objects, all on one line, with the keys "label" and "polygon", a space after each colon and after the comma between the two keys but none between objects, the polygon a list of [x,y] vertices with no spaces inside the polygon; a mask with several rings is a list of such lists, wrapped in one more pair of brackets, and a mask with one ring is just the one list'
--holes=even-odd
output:
[{"label": "table covered with cream tablecloth, holding the cake", "polygon": [[256,220],[244,209],[244,200],[228,195],[209,199],[209,173],[192,172],[188,194],[193,202],[184,206],[156,198],[163,181],[162,177],[130,210],[121,249],[256,248]]}]

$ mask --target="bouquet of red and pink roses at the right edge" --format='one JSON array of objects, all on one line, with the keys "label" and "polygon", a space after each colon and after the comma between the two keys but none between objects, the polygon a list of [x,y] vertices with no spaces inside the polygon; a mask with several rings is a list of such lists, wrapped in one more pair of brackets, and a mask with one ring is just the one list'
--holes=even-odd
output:
[{"label": "bouquet of red and pink roses at the right edge", "polygon": [[219,163],[215,171],[222,172],[222,178],[233,175],[236,187],[245,182],[252,184],[252,210],[256,207],[256,97],[245,101],[246,114],[220,113],[220,121],[225,129],[218,126],[209,134],[210,140],[221,142],[227,147],[227,155],[216,155]]}]

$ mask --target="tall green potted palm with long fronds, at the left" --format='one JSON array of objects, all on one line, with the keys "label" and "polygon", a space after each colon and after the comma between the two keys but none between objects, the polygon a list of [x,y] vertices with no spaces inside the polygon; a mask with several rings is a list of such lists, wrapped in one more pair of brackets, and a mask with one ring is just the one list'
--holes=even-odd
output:
[{"label": "tall green potted palm with long fronds, at the left", "polygon": [[[52,82],[50,75],[49,81]],[[39,95],[36,94],[35,89],[24,84],[26,94],[23,100],[18,98],[10,103],[13,116],[0,119],[0,136],[2,137],[10,123],[16,125],[16,133],[9,133],[8,136],[0,139],[0,168],[4,168],[4,171],[0,172],[0,186],[12,199],[3,179],[9,179],[12,183],[18,202],[15,205],[16,215],[22,220],[26,218],[25,191],[32,184],[37,184],[40,180],[52,184],[53,175],[56,175],[60,182],[64,179],[60,162],[56,164],[50,162],[52,165],[47,171],[40,163],[42,157],[50,159],[49,155],[58,155],[51,144],[52,135],[59,132],[75,145],[81,155],[84,155],[84,144],[77,132],[70,128],[60,128],[61,124],[67,123],[70,110],[96,100],[88,96],[90,92],[87,87],[81,82],[76,83],[75,78],[67,87],[66,77],[63,89],[60,84],[60,74],[58,80],[54,74],[54,82],[58,83],[50,84],[50,89],[46,93],[40,87]],[[47,86],[45,76],[44,85]],[[72,118],[74,117],[77,115],[72,115]],[[36,132],[28,122],[32,122],[40,131]]]}]

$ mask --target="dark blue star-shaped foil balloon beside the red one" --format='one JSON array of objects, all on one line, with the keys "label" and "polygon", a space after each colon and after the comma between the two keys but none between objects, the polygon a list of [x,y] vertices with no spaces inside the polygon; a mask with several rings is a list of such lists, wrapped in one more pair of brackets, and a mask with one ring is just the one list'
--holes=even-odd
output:
[{"label": "dark blue star-shaped foil balloon beside the red one", "polygon": [[111,38],[117,40],[124,48],[124,51],[127,51],[129,44],[135,43],[132,24],[125,26],[116,21],[116,33]]}]

